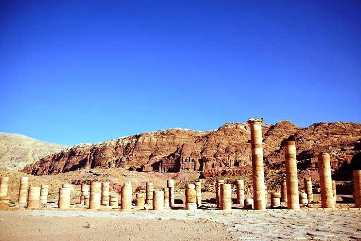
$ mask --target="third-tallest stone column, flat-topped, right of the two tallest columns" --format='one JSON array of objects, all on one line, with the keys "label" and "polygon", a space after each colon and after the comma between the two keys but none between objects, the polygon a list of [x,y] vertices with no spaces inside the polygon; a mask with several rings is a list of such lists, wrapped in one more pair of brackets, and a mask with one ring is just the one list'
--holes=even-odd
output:
[{"label": "third-tallest stone column, flat-topped, right of the two tallest columns", "polygon": [[321,185],[321,207],[334,208],[335,202],[332,193],[331,163],[329,153],[321,152],[318,155],[318,170],[320,173]]}]

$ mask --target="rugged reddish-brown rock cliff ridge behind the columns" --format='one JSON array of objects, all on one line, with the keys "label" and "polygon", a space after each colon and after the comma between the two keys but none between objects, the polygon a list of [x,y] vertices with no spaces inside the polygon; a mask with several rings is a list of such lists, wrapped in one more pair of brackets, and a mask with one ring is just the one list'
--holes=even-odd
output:
[{"label": "rugged reddish-brown rock cliff ridge behind the columns", "polygon": [[[173,161],[180,170],[209,171],[251,164],[250,126],[226,123],[214,131],[173,128],[146,132],[98,144],[80,144],[46,156],[23,171],[46,175],[88,168],[158,171],[161,162]],[[330,153],[333,170],[361,167],[361,124],[320,122],[299,127],[288,120],[263,125],[267,167],[284,162],[283,143],[296,140],[300,169],[317,167],[317,155]]]}]

